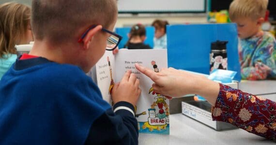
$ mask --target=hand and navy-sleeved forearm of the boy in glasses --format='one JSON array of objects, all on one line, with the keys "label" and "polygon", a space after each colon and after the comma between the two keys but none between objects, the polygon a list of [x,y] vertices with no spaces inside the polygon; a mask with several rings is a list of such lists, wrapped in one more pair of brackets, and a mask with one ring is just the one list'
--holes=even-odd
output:
[{"label": "hand and navy-sleeved forearm of the boy in glasses", "polygon": [[107,109],[93,122],[86,145],[138,145],[134,105],[140,93],[139,80],[128,70],[112,89],[113,110]]}]

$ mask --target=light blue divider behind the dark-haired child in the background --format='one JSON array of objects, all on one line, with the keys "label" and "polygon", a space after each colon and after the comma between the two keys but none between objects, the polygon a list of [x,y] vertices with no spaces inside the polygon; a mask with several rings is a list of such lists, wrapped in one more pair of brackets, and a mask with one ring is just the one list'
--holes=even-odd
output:
[{"label": "light blue divider behind the dark-haired child in the background", "polygon": [[[121,36],[123,36],[123,39],[119,43],[118,47],[123,48],[125,43],[128,41],[127,34],[130,32],[130,27],[123,27],[123,28],[116,28],[115,32]],[[145,44],[149,44],[153,48],[153,38],[154,38],[154,27],[146,27],[146,40]]]}]

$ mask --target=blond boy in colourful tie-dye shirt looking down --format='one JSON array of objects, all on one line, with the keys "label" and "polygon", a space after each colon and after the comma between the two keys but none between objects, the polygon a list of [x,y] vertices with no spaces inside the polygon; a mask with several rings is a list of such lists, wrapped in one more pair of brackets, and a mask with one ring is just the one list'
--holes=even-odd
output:
[{"label": "blond boy in colourful tie-dye shirt looking down", "polygon": [[276,78],[276,40],[261,30],[268,0],[233,0],[229,16],[237,23],[242,79]]}]

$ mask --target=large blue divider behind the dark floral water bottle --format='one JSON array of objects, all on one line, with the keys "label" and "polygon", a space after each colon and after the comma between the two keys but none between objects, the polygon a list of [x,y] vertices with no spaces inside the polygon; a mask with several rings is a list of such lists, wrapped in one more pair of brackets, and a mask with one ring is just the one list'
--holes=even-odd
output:
[{"label": "large blue divider behind the dark floral water bottle", "polygon": [[228,41],[228,70],[241,80],[236,24],[169,25],[167,36],[168,66],[204,74],[210,74],[211,43]]}]

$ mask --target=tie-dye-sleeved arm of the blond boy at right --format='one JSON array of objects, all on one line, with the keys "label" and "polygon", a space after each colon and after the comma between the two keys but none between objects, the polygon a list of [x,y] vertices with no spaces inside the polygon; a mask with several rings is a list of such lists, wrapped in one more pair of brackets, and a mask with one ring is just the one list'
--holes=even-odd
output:
[{"label": "tie-dye-sleeved arm of the blond boy at right", "polygon": [[274,43],[270,43],[266,47],[262,47],[258,52],[258,56],[255,56],[254,66],[241,67],[241,76],[247,80],[263,80],[266,79],[273,70],[276,70],[276,63],[273,58],[276,48]]}]

